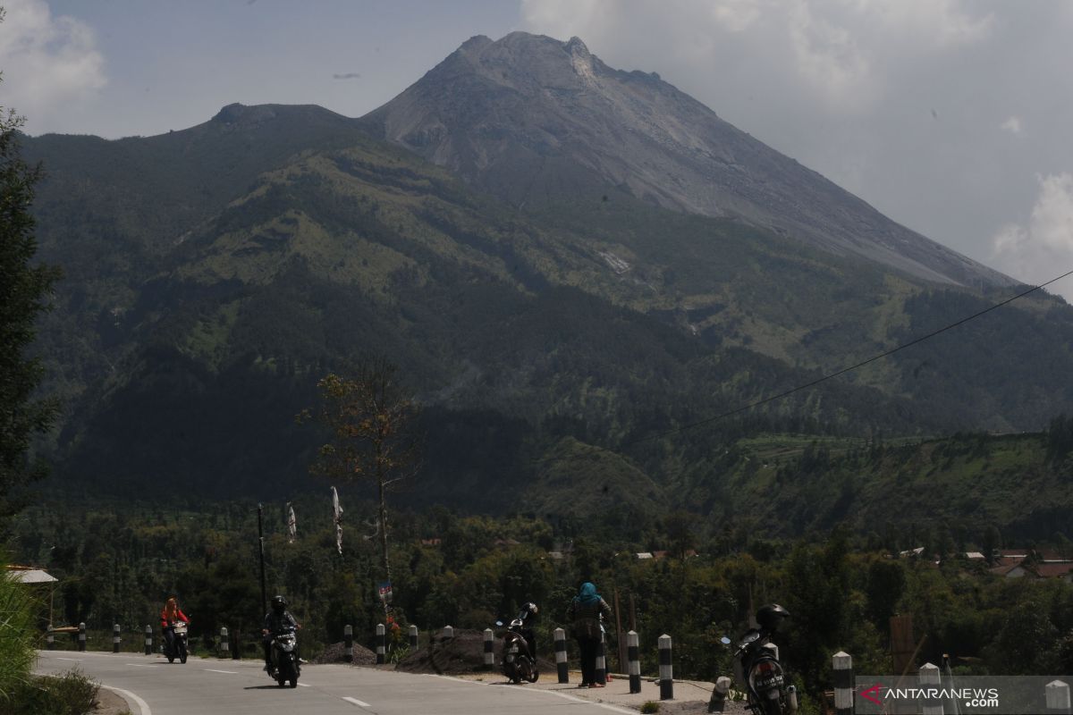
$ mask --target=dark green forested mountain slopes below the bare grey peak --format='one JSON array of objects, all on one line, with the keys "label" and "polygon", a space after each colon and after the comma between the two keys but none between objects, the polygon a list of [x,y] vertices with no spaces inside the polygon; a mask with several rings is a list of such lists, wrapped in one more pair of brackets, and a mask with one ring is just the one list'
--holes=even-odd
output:
[{"label": "dark green forested mountain slopes below the bare grey peak", "polygon": [[[792,480],[810,502],[792,505],[794,523],[809,527],[811,502],[832,496],[824,473],[760,467],[738,447],[758,435],[866,449],[1073,412],[1060,298],[817,383],[1012,291],[674,210],[596,176],[519,210],[370,122],[230,105],[161,136],[26,138],[46,169],[41,257],[67,274],[39,343],[65,405],[40,449],[67,494],[319,489],[306,472],[320,435],[294,415],[319,377],[370,355],[396,362],[425,406],[407,504],[578,520],[591,507],[623,524],[668,506],[769,508],[763,486]],[[840,468],[843,482],[865,474]],[[577,475],[594,479],[591,500]],[[880,504],[898,483],[842,491]]]}]

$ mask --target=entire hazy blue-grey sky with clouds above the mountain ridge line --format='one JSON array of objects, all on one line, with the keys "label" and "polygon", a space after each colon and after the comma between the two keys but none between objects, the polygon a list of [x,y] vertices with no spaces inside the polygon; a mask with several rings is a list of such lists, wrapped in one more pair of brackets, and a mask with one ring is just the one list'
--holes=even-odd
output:
[{"label": "entire hazy blue-grey sky with clouds above the mountain ridge line", "polygon": [[[388,101],[472,35],[579,36],[1026,283],[1073,270],[1073,2],[0,0],[26,131],[152,135],[232,102]],[[1073,277],[1052,286],[1073,300]]]}]

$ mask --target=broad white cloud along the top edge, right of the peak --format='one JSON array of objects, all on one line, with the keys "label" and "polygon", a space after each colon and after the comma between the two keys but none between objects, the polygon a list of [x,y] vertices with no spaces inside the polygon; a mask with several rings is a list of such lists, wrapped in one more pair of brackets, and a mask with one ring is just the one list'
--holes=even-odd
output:
[{"label": "broad white cloud along the top edge, right of the peak", "polygon": [[961,0],[521,0],[521,16],[535,32],[576,34],[598,54],[659,42],[664,55],[694,65],[725,72],[745,63],[759,83],[761,72],[771,72],[852,108],[880,99],[885,70],[877,68],[898,65],[907,48],[922,57],[988,39],[994,17],[962,6]]}]

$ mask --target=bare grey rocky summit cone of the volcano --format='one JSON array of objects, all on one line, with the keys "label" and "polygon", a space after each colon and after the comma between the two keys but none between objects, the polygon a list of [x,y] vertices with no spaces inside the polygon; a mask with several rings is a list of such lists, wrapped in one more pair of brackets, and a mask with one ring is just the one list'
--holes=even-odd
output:
[{"label": "bare grey rocky summit cone of the volcano", "polygon": [[891,221],[658,75],[607,66],[577,38],[472,38],[364,123],[517,206],[618,189],[937,282],[1014,283]]}]

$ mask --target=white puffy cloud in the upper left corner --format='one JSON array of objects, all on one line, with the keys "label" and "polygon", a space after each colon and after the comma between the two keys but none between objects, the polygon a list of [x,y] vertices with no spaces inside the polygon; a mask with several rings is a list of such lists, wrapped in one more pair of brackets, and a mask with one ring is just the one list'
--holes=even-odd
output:
[{"label": "white puffy cloud in the upper left corner", "polygon": [[[46,116],[104,87],[104,57],[92,29],[54,17],[44,0],[4,0],[0,23],[0,105],[29,117]],[[47,130],[47,128],[45,128]]]}]

